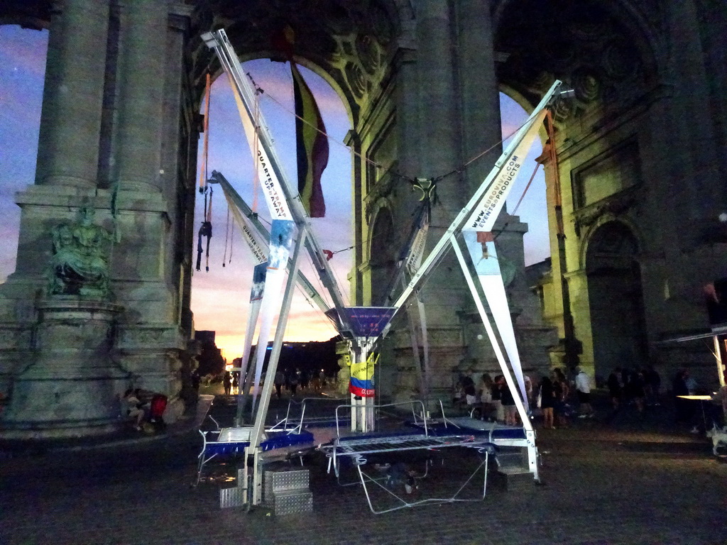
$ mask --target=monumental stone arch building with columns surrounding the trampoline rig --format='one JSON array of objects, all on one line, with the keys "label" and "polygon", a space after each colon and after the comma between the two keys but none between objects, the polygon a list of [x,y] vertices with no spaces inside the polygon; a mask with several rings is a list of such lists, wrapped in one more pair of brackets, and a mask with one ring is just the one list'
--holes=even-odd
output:
[{"label": "monumental stone arch building with columns surrounding the trampoline rig", "polygon": [[[436,181],[431,248],[497,158],[498,92],[530,110],[564,81],[575,97],[542,130],[552,267],[540,299],[522,273],[527,226],[507,212],[496,225],[498,254],[520,272],[507,291],[524,368],[706,363],[703,351],[655,343],[705,327],[702,286],[724,276],[726,9],[718,0],[4,2],[0,22],[50,32],[36,183],[17,195],[17,270],[0,286],[4,429],[108,431],[111,396],[129,377],[174,405],[193,329],[198,112],[206,73],[220,73],[200,35],[214,28],[241,60],[284,60],[275,36],[290,26],[295,60],[348,109],[356,304],[385,300],[419,199],[409,180]],[[47,291],[52,229],[81,207],[116,237],[112,296],[96,306]],[[448,259],[422,291],[438,397],[453,372],[497,369]],[[89,320],[97,326],[84,328]],[[83,361],[79,343],[95,347]],[[403,323],[384,352],[390,394],[417,395]]]}]

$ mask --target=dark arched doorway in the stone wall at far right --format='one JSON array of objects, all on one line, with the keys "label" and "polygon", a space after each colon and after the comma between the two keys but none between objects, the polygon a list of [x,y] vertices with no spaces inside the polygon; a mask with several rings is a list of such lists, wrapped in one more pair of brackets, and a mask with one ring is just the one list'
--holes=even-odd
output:
[{"label": "dark arched doorway in the stone wall at far right", "polygon": [[638,242],[622,222],[595,230],[586,251],[595,376],[646,365],[647,344]]}]

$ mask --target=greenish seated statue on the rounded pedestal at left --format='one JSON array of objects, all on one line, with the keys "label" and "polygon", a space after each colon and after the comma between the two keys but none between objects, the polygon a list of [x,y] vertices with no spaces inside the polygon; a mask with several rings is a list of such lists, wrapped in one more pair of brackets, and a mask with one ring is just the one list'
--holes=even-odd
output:
[{"label": "greenish seated statue on the rounded pedestal at left", "polygon": [[53,227],[49,295],[80,295],[109,299],[108,248],[111,233],[94,225],[96,211],[79,209],[76,222]]}]

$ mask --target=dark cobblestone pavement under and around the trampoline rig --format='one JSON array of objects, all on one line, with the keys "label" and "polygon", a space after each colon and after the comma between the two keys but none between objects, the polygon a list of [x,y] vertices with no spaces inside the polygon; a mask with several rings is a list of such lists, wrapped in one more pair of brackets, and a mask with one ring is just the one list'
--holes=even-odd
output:
[{"label": "dark cobblestone pavement under and around the trampoline rig", "polygon": [[[704,437],[672,430],[667,411],[540,430],[545,485],[504,491],[491,480],[480,502],[380,515],[360,487],[326,475],[317,456],[306,461],[312,514],[220,509],[233,467],[217,464],[190,487],[201,446],[193,430],[113,448],[6,454],[0,544],[727,544],[727,464]],[[468,463],[465,455],[437,473]],[[446,484],[437,479],[422,488]]]}]

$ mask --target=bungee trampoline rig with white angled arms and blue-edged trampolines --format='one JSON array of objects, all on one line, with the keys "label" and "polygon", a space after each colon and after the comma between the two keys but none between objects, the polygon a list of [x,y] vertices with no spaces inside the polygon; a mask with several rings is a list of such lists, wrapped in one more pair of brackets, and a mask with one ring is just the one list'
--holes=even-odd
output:
[{"label": "bungee trampoline rig with white angled arms and blue-edged trampolines", "polygon": [[[505,296],[505,286],[497,261],[497,250],[494,237],[491,235],[495,219],[505,204],[505,199],[513,187],[532,142],[545,120],[547,109],[552,108],[556,100],[568,96],[569,92],[561,92],[561,82],[555,81],[545,94],[537,108],[527,121],[518,129],[507,148],[499,157],[494,168],[483,180],[470,198],[470,201],[459,211],[457,217],[449,225],[446,233],[435,243],[432,251],[423,256],[425,244],[422,237],[426,236],[428,214],[419,214],[417,228],[411,237],[400,261],[400,270],[392,281],[391,289],[401,288],[395,296],[392,291],[389,307],[346,307],[340,288],[337,286],[332,270],[327,264],[326,255],[318,245],[310,225],[305,207],[297,190],[293,189],[280,167],[280,162],[273,147],[267,127],[262,120],[259,108],[255,107],[255,89],[241,70],[224,30],[206,33],[202,36],[208,47],[214,50],[227,74],[238,105],[241,121],[247,140],[254,149],[254,162],[260,179],[265,201],[272,219],[270,233],[257,221],[255,214],[236,193],[232,185],[222,174],[214,171],[209,182],[218,183],[225,192],[233,217],[249,243],[259,264],[254,267],[254,281],[251,304],[246,330],[245,350],[242,358],[241,372],[245,376],[245,394],[252,394],[252,416],[254,421],[244,425],[241,407],[234,427],[217,429],[212,432],[201,432],[203,447],[199,454],[197,482],[206,463],[220,456],[241,453],[244,457],[244,469],[238,475],[236,494],[241,504],[248,507],[262,502],[262,465],[270,456],[278,458],[281,450],[287,449],[288,456],[300,456],[313,448],[329,460],[329,472],[340,479],[342,467],[355,469],[358,484],[361,485],[371,512],[376,514],[396,509],[414,507],[424,504],[449,503],[454,501],[481,501],[486,496],[487,469],[490,457],[494,457],[499,467],[504,468],[505,459],[512,457],[513,449],[516,458],[523,460],[523,470],[529,473],[534,481],[539,481],[538,452],[535,431],[529,418],[529,407],[523,372],[521,369],[518,347],[510,308]],[[256,142],[253,147],[252,142]],[[425,189],[422,189],[425,193]],[[431,193],[429,191],[429,193]],[[423,233],[423,234],[422,234]],[[406,302],[414,296],[419,308],[419,323],[425,325],[423,304],[419,299],[419,290],[427,278],[433,273],[441,258],[449,249],[454,250],[460,269],[465,277],[467,287],[481,317],[483,326],[491,342],[492,349],[502,370],[507,387],[513,392],[515,407],[520,416],[522,426],[503,426],[471,418],[448,418],[441,402],[441,417],[430,418],[430,401],[427,405],[422,401],[406,403],[412,417],[403,420],[400,425],[390,429],[377,429],[377,416],[385,411],[401,409],[401,404],[374,405],[373,390],[369,380],[373,374],[377,356],[374,347],[388,332],[391,320],[395,318]],[[328,291],[333,306],[328,308],[324,299],[317,293],[313,284],[298,270],[302,251],[308,253],[318,278]],[[406,267],[406,271],[404,270]],[[286,273],[287,271],[287,280]],[[406,274],[405,274],[406,273]],[[301,404],[300,416],[292,416],[291,408],[286,417],[278,421],[274,427],[265,427],[268,416],[270,397],[273,394],[273,376],[275,376],[280,355],[286,320],[291,306],[292,292],[296,284],[318,307],[326,313],[334,327],[348,342],[350,362],[352,364],[352,382],[350,386],[350,403],[339,400],[337,408],[331,416],[317,416],[316,421],[306,421],[305,408],[308,400]],[[401,287],[400,287],[401,284]],[[483,297],[484,296],[484,297]],[[483,300],[484,299],[484,300]],[[489,307],[491,323],[485,304]],[[274,334],[273,347],[268,363],[267,377],[261,384],[263,358],[265,350],[257,352],[251,358],[252,336],[259,324],[257,346],[268,344],[272,333],[273,319],[278,317],[278,326]],[[497,331],[497,334],[496,332]],[[426,339],[426,335],[423,335]],[[412,339],[416,335],[412,334]],[[425,340],[426,343],[426,340]],[[504,347],[505,352],[503,352]],[[419,350],[414,350],[419,354]],[[417,370],[422,371],[422,392],[426,392],[428,371],[427,350],[422,366],[417,360]],[[507,355],[507,357],[506,357]],[[353,371],[356,369],[357,371]],[[357,376],[360,373],[360,376]],[[258,395],[259,392],[259,395]],[[244,399],[244,396],[241,396]],[[340,403],[343,401],[344,403]],[[241,403],[244,403],[241,401]],[[345,424],[345,425],[344,425]],[[335,435],[332,426],[335,425]],[[327,431],[321,432],[321,430]],[[326,440],[321,440],[325,437]],[[435,456],[444,453],[475,453],[478,461],[473,472],[465,476],[465,482],[454,493],[433,498],[414,500],[395,493],[387,482],[392,479],[391,470],[403,471],[406,481],[405,490],[413,488],[417,479],[427,475],[432,467]],[[401,461],[393,464],[390,460],[413,459],[417,455],[425,460],[425,471],[409,472],[406,464],[402,470]],[[376,475],[377,468],[388,467],[387,475]],[[374,469],[369,469],[374,468]],[[474,483],[475,475],[482,474],[481,493],[463,498],[465,486]],[[347,483],[350,484],[350,483]],[[395,498],[394,506],[377,509],[372,503],[372,487],[383,489]]]}]

